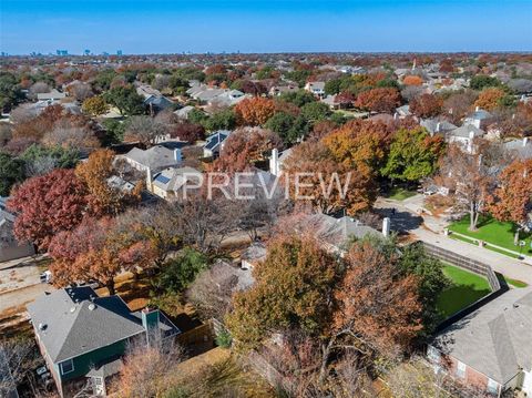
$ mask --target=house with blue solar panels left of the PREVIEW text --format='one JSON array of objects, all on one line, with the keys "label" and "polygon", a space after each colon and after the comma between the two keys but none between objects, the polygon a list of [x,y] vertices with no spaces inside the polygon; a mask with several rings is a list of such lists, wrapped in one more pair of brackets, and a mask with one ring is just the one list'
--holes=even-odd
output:
[{"label": "house with blue solar panels left of the PREVIEW text", "polygon": [[155,174],[152,178],[151,173],[146,176],[146,188],[154,195],[164,200],[177,197],[180,191],[187,184],[198,186],[202,182],[202,172],[193,167],[167,167]]}]

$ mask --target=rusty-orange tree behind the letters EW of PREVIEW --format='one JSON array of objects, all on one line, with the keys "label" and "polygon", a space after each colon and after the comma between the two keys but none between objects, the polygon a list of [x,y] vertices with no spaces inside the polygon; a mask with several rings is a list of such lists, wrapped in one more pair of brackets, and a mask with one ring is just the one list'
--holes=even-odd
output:
[{"label": "rusty-orange tree behind the letters EW of PREVIEW", "polygon": [[367,211],[376,198],[369,169],[360,166],[354,170],[336,161],[332,152],[321,142],[304,142],[294,146],[283,170],[285,178],[290,178],[290,196],[321,213],[346,210],[355,215]]}]

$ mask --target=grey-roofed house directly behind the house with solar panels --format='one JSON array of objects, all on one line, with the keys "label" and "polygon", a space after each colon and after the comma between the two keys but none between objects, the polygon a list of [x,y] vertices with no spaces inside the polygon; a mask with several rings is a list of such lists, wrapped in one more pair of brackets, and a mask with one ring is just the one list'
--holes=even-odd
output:
[{"label": "grey-roofed house directly behind the house with solar panels", "polygon": [[180,166],[183,154],[180,147],[168,149],[165,145],[155,145],[147,150],[132,149],[122,157],[135,170],[156,173],[166,167]]}]

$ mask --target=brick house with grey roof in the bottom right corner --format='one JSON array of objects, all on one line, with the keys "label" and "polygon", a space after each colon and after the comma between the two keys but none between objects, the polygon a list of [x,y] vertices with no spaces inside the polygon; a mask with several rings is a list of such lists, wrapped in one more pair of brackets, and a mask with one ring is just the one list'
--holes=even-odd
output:
[{"label": "brick house with grey roof in the bottom right corner", "polygon": [[428,346],[434,370],[500,397],[532,396],[532,289],[510,289],[441,330]]}]

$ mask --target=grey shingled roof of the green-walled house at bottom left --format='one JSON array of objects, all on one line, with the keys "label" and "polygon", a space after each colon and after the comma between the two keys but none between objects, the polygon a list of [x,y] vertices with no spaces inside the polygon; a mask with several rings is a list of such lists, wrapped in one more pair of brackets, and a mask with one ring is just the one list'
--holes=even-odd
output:
[{"label": "grey shingled roof of the green-walled house at bottom left", "polygon": [[28,305],[28,313],[53,363],[145,330],[119,296],[99,297],[89,286],[45,294]]}]

